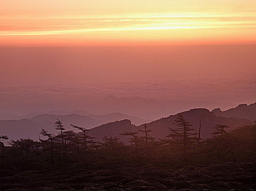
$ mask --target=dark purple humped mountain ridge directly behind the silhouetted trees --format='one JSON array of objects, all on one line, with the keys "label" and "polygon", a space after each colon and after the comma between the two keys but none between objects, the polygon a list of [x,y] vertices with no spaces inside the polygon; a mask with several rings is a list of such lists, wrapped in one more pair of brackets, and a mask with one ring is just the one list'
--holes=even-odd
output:
[{"label": "dark purple humped mountain ridge directly behind the silhouetted trees", "polygon": [[[230,128],[235,128],[242,126],[244,124],[252,124],[251,121],[242,118],[226,118],[216,116],[213,112],[210,112],[207,109],[191,109],[189,111],[181,112],[186,121],[189,121],[194,127],[194,132],[197,133],[200,121],[201,121],[201,137],[208,138],[211,136],[214,127],[216,124],[223,124],[229,126]],[[178,115],[178,114],[177,114]],[[169,127],[175,128],[175,118],[177,115],[171,115],[169,117],[164,117],[159,120],[146,123],[148,129],[151,129],[151,136],[158,138],[163,138],[169,134]],[[129,120],[117,121],[112,123],[103,124],[99,127],[92,128],[89,132],[91,136],[94,136],[97,141],[101,141],[104,136],[116,136],[123,141],[126,141],[127,138],[122,136],[123,132],[138,132],[138,130],[144,130],[144,124],[136,127]]]}]

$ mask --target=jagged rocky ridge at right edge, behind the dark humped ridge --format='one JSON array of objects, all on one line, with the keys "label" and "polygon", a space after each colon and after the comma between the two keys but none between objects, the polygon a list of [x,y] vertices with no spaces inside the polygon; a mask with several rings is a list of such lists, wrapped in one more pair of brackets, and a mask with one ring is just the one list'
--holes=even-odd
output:
[{"label": "jagged rocky ridge at right edge, behind the dark humped ridge", "polygon": [[217,116],[245,118],[256,121],[256,102],[251,105],[240,104],[236,108],[221,111],[219,108],[212,111]]}]

